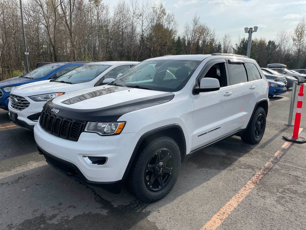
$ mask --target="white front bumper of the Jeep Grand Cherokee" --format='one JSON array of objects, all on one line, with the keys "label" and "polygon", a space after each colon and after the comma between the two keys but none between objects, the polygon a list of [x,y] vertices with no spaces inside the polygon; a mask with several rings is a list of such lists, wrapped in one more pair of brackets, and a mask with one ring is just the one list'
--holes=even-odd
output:
[{"label": "white front bumper of the Jeep Grand Cherokee", "polygon": [[[79,171],[80,176],[77,179],[97,184],[122,180],[140,134],[132,132],[99,136],[96,133],[83,132],[75,142],[53,136],[35,125],[34,137],[43,153],[73,165]],[[108,160],[103,166],[93,166],[86,163],[83,156],[107,157]]]}]

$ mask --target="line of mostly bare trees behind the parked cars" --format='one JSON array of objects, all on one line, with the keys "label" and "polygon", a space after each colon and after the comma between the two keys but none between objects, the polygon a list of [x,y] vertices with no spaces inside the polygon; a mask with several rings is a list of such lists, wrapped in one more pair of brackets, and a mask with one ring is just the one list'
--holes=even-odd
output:
[{"label": "line of mostly bare trees behind the parked cars", "polygon": [[[23,11],[30,69],[43,61],[142,61],[177,54],[246,54],[246,36],[233,46],[229,33],[218,36],[199,14],[179,33],[175,15],[162,4],[123,0],[109,9],[101,0],[27,0]],[[251,58],[262,67],[284,63],[289,68],[305,68],[305,18],[292,31],[281,30],[275,37],[268,41],[254,38]],[[0,0],[0,80],[23,70],[19,1]]]}]

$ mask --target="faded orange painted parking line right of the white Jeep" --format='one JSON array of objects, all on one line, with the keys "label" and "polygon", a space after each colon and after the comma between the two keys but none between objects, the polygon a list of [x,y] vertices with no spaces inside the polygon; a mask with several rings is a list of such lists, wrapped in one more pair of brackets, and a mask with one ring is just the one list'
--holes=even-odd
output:
[{"label": "faded orange painted parking line right of the white Jeep", "polygon": [[[303,128],[300,128],[299,133]],[[287,149],[293,142],[286,141],[282,148]],[[264,175],[271,170],[273,165],[282,156],[283,152],[278,150],[272,157],[246,184],[233,196],[202,228],[201,230],[215,230],[232,213],[232,211],[241,203],[241,201],[253,190]]]}]

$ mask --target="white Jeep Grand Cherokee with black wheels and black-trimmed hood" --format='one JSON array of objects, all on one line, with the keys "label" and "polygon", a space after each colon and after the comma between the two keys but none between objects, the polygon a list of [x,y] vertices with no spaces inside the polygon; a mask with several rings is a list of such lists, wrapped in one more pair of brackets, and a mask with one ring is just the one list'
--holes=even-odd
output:
[{"label": "white Jeep Grand Cherokee with black wheels and black-trimmed hood", "polygon": [[109,85],[44,105],[34,135],[65,175],[145,202],[166,196],[181,162],[223,138],[264,134],[268,82],[256,61],[230,54],[141,62]]}]

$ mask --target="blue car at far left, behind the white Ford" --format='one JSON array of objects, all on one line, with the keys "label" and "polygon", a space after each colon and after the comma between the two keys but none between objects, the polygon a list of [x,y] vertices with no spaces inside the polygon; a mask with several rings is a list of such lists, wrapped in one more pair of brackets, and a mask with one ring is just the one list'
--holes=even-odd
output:
[{"label": "blue car at far left, behind the white Ford", "polygon": [[8,110],[9,93],[14,87],[57,78],[86,62],[56,62],[36,68],[19,77],[0,81],[0,109]]}]

